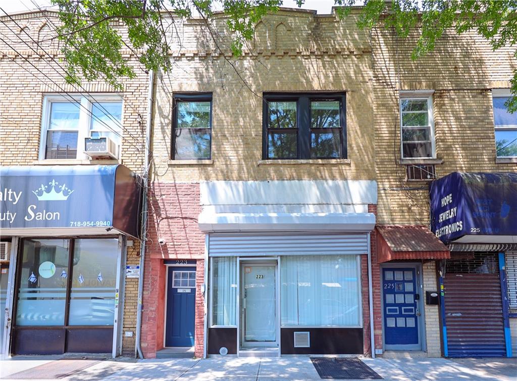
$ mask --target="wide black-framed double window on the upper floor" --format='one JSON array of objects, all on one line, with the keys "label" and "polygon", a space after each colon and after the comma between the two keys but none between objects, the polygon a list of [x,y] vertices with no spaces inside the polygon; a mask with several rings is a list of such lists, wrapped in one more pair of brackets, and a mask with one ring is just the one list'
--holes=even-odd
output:
[{"label": "wide black-framed double window on the upper floor", "polygon": [[346,158],[345,93],[263,98],[264,159]]}]

